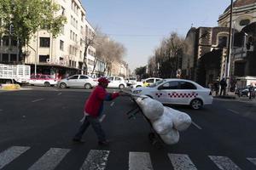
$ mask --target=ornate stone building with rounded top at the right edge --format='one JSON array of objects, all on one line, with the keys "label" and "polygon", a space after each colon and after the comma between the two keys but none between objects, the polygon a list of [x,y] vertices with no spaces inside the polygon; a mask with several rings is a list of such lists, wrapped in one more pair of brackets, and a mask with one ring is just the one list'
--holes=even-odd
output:
[{"label": "ornate stone building with rounded top at the right edge", "polygon": [[[234,43],[230,55],[230,75],[256,76],[255,67],[256,0],[236,0],[233,5],[232,28]],[[230,7],[218,18],[218,26],[230,26]],[[253,45],[254,44],[254,45]]]}]

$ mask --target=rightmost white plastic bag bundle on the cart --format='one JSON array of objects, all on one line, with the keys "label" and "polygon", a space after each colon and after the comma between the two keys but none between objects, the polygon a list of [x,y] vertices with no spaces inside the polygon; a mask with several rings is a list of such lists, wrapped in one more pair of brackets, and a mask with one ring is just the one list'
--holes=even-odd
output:
[{"label": "rightmost white plastic bag bundle on the cart", "polygon": [[178,131],[184,131],[186,130],[190,124],[191,124],[191,118],[188,114],[174,110],[170,107],[166,107],[169,111],[167,116],[170,116],[173,122],[173,127],[177,129]]}]

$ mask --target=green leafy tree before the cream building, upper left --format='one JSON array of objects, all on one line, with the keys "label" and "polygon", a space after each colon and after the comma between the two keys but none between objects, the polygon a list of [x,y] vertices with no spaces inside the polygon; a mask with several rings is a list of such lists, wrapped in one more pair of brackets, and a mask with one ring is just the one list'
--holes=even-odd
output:
[{"label": "green leafy tree before the cream building, upper left", "polygon": [[0,34],[10,35],[9,26],[13,26],[13,35],[18,40],[19,57],[24,62],[22,47],[27,45],[34,33],[40,29],[47,30],[56,37],[66,17],[56,16],[60,6],[51,0],[0,0]]}]

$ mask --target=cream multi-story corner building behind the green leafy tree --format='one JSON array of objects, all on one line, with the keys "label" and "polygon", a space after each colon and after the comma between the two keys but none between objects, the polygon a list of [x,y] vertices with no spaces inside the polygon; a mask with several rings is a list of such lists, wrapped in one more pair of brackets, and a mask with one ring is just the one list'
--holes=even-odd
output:
[{"label": "cream multi-story corner building behind the green leafy tree", "polygon": [[[86,11],[80,0],[53,0],[61,9],[55,15],[65,15],[67,24],[62,26],[61,34],[53,37],[49,31],[40,30],[25,47],[25,64],[32,66],[32,73],[42,73],[67,77],[82,72],[84,60],[84,43],[94,33],[86,20]],[[0,49],[0,62],[19,63],[16,42],[3,37]],[[90,46],[87,50],[88,73],[92,71],[96,49]]]}]

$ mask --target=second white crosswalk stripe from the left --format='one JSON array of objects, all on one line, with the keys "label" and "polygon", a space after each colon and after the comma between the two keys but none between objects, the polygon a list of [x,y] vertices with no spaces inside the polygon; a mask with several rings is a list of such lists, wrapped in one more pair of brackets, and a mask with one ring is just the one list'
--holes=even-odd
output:
[{"label": "second white crosswalk stripe from the left", "polygon": [[51,148],[44,156],[36,161],[28,170],[52,170],[57,167],[61,160],[69,152],[68,149]]}]

